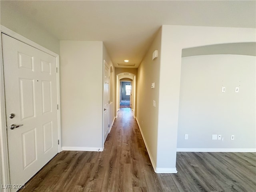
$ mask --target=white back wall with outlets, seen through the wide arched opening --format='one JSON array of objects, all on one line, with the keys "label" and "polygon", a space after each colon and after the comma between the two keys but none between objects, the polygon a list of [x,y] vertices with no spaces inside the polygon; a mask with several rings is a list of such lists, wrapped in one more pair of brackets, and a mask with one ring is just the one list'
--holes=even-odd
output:
[{"label": "white back wall with outlets, seen through the wide arched opening", "polygon": [[185,149],[178,150],[255,149],[255,65],[256,57],[245,55],[182,58],[177,148]]}]

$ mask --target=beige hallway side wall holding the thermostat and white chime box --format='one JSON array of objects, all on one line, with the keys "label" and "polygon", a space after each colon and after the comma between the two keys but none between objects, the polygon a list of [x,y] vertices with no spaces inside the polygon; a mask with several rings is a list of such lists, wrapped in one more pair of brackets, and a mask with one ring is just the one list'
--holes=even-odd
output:
[{"label": "beige hallway side wall holding the thermostat and white chime box", "polygon": [[[158,50],[158,58],[152,60],[152,53]],[[150,154],[152,165],[156,168],[158,142],[158,103],[161,61],[161,30],[138,68],[137,121]],[[155,88],[151,84],[155,83]],[[156,107],[153,106],[156,101]]]}]

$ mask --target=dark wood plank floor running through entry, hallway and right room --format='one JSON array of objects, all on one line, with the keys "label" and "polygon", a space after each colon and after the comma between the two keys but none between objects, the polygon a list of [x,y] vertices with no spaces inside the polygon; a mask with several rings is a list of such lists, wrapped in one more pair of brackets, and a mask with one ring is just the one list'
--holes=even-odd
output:
[{"label": "dark wood plank floor running through entry, hallway and right room", "polygon": [[62,151],[20,192],[255,192],[256,154],[177,152],[177,174],[156,174],[130,108],[103,152]]}]

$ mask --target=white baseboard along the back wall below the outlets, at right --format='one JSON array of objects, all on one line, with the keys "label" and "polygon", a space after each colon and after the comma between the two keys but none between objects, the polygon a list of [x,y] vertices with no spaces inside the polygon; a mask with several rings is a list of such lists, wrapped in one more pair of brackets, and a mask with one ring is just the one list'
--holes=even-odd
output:
[{"label": "white baseboard along the back wall below the outlets, at right", "polygon": [[255,148],[177,148],[177,152],[256,152]]}]

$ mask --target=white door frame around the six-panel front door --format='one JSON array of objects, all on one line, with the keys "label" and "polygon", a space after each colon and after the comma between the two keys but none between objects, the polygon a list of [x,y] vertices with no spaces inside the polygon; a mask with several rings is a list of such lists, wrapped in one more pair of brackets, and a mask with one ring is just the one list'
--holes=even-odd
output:
[{"label": "white door frame around the six-panel front door", "polygon": [[[8,142],[7,142],[7,125],[6,125],[6,108],[5,108],[5,93],[4,93],[4,70],[3,70],[3,55],[2,55],[2,33],[20,40],[38,50],[46,52],[54,57],[56,57],[56,64],[58,71],[56,73],[57,78],[57,103],[58,103],[58,152],[61,152],[61,121],[60,121],[60,64],[59,64],[59,55],[44,48],[43,46],[21,36],[20,34],[6,28],[5,26],[1,25],[1,36],[0,36],[0,174],[2,175],[0,183],[1,184],[10,184],[10,170],[9,170],[9,157],[8,157]],[[57,107],[57,106],[56,106]]]}]

